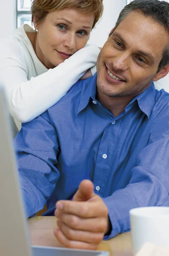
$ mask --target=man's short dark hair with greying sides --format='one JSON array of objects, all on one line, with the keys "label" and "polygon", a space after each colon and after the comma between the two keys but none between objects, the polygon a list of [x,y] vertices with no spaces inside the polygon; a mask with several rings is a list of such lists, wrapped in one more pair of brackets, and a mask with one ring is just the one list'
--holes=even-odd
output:
[{"label": "man's short dark hair with greying sides", "polygon": [[[134,0],[130,4],[124,7],[121,11],[117,22],[115,23],[115,29],[124,20],[130,12],[138,12],[145,17],[149,17],[154,20],[169,33],[169,3],[160,0]],[[114,29],[114,30],[115,30]],[[114,31],[113,30],[113,31]],[[113,33],[113,32],[112,32]],[[111,34],[112,34],[111,33]],[[111,35],[110,34],[110,35]],[[163,58],[158,66],[158,72],[162,67],[169,64],[169,44],[163,52]]]}]

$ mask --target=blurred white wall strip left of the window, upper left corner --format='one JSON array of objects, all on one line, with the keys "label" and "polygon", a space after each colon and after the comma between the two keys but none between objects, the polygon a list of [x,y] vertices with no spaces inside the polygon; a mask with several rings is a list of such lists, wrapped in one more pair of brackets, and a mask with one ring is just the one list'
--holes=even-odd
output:
[{"label": "blurred white wall strip left of the window, upper left corner", "polygon": [[16,28],[16,0],[0,0],[0,38]]}]

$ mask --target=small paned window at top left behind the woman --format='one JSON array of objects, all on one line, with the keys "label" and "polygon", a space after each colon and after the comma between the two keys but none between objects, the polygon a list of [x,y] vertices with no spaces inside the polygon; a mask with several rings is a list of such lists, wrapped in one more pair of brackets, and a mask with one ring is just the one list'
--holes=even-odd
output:
[{"label": "small paned window at top left behind the woman", "polygon": [[17,0],[17,27],[24,24],[31,26],[31,0]]}]

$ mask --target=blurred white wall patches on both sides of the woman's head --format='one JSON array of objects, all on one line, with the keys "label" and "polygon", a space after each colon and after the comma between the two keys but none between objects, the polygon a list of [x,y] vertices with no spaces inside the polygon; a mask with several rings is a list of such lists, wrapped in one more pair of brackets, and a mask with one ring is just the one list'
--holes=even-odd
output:
[{"label": "blurred white wall patches on both sides of the woman's head", "polygon": [[[127,0],[103,0],[104,14],[90,35],[89,44],[102,47]],[[0,38],[16,28],[16,0],[0,0]]]}]

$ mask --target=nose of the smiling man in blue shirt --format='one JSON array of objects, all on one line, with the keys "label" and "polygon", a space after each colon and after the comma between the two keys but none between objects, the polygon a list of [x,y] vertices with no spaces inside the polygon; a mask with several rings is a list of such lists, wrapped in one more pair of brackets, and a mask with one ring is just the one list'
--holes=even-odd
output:
[{"label": "nose of the smiling man in blue shirt", "polygon": [[127,53],[121,52],[115,58],[113,58],[114,70],[126,71],[129,67],[130,57]]}]

